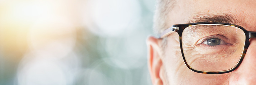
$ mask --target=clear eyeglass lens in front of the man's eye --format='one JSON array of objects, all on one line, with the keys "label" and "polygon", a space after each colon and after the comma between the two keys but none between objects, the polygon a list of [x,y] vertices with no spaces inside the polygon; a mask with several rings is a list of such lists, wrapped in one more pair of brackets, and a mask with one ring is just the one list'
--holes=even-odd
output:
[{"label": "clear eyeglass lens in front of the man's eye", "polygon": [[224,71],[236,66],[245,45],[237,27],[200,24],[184,29],[181,42],[186,62],[195,70]]}]

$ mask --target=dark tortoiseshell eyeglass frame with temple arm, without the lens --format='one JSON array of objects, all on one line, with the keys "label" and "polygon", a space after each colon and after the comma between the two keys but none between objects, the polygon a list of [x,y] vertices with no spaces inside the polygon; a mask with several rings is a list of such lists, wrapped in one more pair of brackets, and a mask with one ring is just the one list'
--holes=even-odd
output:
[{"label": "dark tortoiseshell eyeglass frame with temple arm, without the lens", "polygon": [[[233,27],[237,27],[240,28],[244,33],[245,33],[245,45],[244,45],[244,50],[242,52],[242,55],[240,57],[239,62],[236,64],[236,66],[234,66],[233,68],[229,69],[229,70],[224,70],[224,71],[217,71],[217,72],[209,72],[209,71],[201,71],[201,70],[195,70],[193,68],[191,68],[188,63],[186,62],[184,53],[183,53],[183,48],[182,48],[182,41],[181,41],[181,35],[183,33],[183,30],[189,26],[193,26],[193,25],[198,25],[198,24],[216,24],[216,25],[227,25],[227,26],[233,26]],[[164,30],[163,33],[160,34],[159,39],[164,38],[165,36],[168,36],[169,34],[173,33],[173,32],[177,32],[179,34],[179,39],[180,39],[180,50],[181,50],[181,54],[183,57],[183,60],[186,64],[186,66],[197,73],[203,73],[203,74],[224,74],[224,73],[229,73],[232,72],[233,70],[235,70],[237,67],[240,66],[240,64],[242,63],[242,60],[245,57],[245,53],[250,45],[249,39],[250,38],[255,38],[256,37],[256,32],[251,32],[251,31],[247,31],[245,28],[235,25],[235,24],[229,24],[229,23],[219,23],[219,22],[199,22],[199,23],[188,23],[188,24],[175,24],[172,27]]]}]

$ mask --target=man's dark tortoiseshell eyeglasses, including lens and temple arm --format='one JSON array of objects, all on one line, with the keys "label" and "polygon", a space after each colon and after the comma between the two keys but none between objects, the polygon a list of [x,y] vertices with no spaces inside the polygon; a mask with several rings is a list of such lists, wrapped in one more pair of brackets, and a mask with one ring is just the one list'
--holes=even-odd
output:
[{"label": "man's dark tortoiseshell eyeglasses, including lens and temple arm", "polygon": [[256,32],[229,23],[200,22],[176,24],[159,37],[177,32],[186,66],[198,73],[222,74],[235,70],[244,59],[249,39]]}]

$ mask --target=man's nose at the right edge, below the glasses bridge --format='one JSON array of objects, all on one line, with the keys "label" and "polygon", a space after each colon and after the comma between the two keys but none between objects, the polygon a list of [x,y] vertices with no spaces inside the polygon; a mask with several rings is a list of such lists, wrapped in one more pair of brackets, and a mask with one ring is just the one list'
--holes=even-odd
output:
[{"label": "man's nose at the right edge, below the glasses bridge", "polygon": [[240,66],[230,73],[230,85],[256,84],[256,38],[251,38],[244,60]]}]

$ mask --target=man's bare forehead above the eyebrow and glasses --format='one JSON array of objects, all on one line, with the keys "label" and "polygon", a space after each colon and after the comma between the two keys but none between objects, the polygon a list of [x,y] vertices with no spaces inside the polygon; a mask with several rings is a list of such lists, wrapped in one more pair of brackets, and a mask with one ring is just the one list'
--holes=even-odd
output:
[{"label": "man's bare forehead above the eyebrow and glasses", "polygon": [[232,16],[235,24],[256,31],[255,4],[256,0],[178,0],[169,13],[170,21],[182,24],[199,17],[225,14]]}]

